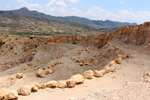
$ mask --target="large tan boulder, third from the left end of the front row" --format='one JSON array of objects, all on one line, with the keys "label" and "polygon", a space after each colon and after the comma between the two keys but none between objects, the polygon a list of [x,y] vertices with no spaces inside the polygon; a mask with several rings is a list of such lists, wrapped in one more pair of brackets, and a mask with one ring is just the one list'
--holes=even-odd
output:
[{"label": "large tan boulder, third from the left end of the front row", "polygon": [[23,85],[20,87],[17,91],[19,95],[30,95],[31,94],[31,86],[29,85]]}]

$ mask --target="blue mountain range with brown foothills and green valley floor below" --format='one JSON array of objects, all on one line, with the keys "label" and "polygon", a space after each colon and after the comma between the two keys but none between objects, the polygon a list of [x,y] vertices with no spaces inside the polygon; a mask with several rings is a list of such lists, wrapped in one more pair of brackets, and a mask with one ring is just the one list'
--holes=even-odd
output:
[{"label": "blue mountain range with brown foothills and green valley floor below", "polygon": [[[64,33],[96,34],[112,32],[124,25],[136,23],[110,20],[90,20],[77,16],[56,17],[23,7],[17,10],[0,11],[0,32],[2,33]],[[6,29],[5,29],[5,28]],[[7,32],[6,32],[7,30]],[[49,31],[50,30],[50,31]]]}]

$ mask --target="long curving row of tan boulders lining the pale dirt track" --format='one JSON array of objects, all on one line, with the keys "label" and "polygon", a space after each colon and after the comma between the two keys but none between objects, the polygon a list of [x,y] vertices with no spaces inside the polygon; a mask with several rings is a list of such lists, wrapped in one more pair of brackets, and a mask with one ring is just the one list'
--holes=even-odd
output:
[{"label": "long curving row of tan boulders lining the pale dirt track", "polygon": [[[129,55],[118,55],[118,58],[111,61],[108,65],[104,67],[102,70],[88,70],[81,74],[76,74],[70,77],[68,80],[51,80],[44,84],[34,83],[34,85],[23,85],[16,90],[10,91],[8,94],[5,91],[0,90],[0,100],[14,100],[18,98],[18,95],[27,96],[30,95],[32,92],[37,92],[39,89],[45,88],[73,88],[77,84],[83,84],[85,79],[93,79],[95,77],[102,77],[106,73],[115,72],[116,71],[116,64],[121,64],[123,59],[129,58]],[[18,78],[22,78],[22,74],[17,74]]]}]

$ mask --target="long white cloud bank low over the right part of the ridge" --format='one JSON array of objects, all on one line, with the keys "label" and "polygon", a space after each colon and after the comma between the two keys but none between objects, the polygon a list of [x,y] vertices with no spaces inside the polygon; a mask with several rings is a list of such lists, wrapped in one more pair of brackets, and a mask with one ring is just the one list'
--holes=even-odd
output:
[{"label": "long white cloud bank low over the right part of the ridge", "polygon": [[57,16],[80,16],[86,17],[93,20],[113,20],[113,21],[121,21],[121,22],[137,22],[143,23],[144,21],[150,21],[150,12],[149,11],[137,11],[132,12],[129,10],[118,10],[117,13],[112,13],[105,9],[99,7],[93,7],[88,9],[87,11],[81,11],[77,8],[72,9],[63,9],[61,11],[54,11],[51,14]]}]

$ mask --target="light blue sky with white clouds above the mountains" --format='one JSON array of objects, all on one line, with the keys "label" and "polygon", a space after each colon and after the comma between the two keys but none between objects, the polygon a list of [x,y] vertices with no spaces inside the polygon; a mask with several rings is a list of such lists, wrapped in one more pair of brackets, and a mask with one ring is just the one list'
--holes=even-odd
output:
[{"label": "light blue sky with white clouds above the mountains", "polygon": [[0,0],[0,10],[27,7],[52,16],[79,16],[92,20],[150,21],[150,0]]}]

